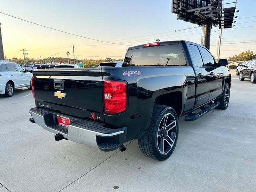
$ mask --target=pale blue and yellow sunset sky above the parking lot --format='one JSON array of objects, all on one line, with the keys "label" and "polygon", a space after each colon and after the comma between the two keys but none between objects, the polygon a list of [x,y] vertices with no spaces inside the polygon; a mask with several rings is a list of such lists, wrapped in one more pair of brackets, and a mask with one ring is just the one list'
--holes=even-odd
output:
[{"label": "pale blue and yellow sunset sky above the parking lot", "polygon": [[[226,0],[228,2],[228,0]],[[0,14],[4,55],[46,58],[56,54],[78,59],[123,58],[129,46],[157,38],[201,43],[202,28],[177,20],[171,0],[0,0],[0,12],[80,36],[124,45],[97,42],[37,26]],[[256,1],[238,0],[235,27],[222,32],[221,58],[246,50],[256,52]],[[182,30],[192,28],[189,30]],[[175,32],[175,30],[182,30]],[[218,27],[212,28],[210,51],[217,55]],[[57,54],[58,53],[58,54]]]}]

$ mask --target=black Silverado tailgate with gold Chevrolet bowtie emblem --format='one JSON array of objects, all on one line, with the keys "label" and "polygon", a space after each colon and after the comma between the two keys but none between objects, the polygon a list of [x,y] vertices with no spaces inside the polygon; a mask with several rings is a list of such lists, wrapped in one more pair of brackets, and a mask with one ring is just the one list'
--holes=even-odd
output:
[{"label": "black Silverado tailgate with gold Chevrolet bowtie emblem", "polygon": [[104,121],[101,69],[35,70],[36,106]]}]

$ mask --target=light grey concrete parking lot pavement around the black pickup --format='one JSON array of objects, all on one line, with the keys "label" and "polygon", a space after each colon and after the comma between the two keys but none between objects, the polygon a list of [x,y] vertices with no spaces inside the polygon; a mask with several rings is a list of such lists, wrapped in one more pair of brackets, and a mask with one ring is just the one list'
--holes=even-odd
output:
[{"label": "light grey concrete parking lot pavement around the black pickup", "polygon": [[0,96],[0,192],[177,191],[256,189],[256,84],[232,76],[227,110],[185,122],[172,156],[142,155],[137,140],[125,152],[102,152],[28,121],[31,91]]}]

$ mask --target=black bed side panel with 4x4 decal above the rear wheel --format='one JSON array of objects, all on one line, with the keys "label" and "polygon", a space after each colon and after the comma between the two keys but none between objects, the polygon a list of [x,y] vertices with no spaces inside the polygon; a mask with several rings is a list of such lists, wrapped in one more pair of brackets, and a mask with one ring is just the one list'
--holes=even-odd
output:
[{"label": "black bed side panel with 4x4 decal above the rear wheel", "polygon": [[[129,71],[140,72],[140,75]],[[194,70],[181,67],[122,67],[102,68],[103,80],[116,79],[127,82],[128,108],[118,115],[105,114],[105,122],[126,126],[126,140],[137,138],[150,126],[155,99],[163,94],[182,93],[182,112],[193,108],[195,100]],[[172,98],[170,98],[172,99]]]}]

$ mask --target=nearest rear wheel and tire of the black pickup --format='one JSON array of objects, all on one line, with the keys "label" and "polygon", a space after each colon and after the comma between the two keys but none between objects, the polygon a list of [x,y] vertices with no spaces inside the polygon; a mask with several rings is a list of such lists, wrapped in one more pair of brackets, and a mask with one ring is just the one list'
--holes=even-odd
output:
[{"label": "nearest rear wheel and tire of the black pickup", "polygon": [[174,151],[178,134],[179,122],[175,110],[169,106],[155,105],[148,132],[138,139],[140,151],[155,160],[166,160]]}]

